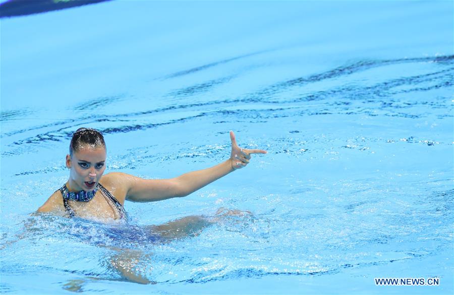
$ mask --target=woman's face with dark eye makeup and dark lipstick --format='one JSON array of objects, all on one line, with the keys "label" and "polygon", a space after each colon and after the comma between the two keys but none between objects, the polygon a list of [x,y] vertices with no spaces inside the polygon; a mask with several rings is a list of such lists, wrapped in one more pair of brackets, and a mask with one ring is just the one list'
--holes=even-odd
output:
[{"label": "woman's face with dark eye makeup and dark lipstick", "polygon": [[105,147],[83,145],[73,156],[66,155],[66,166],[70,168],[69,189],[93,191],[105,170]]}]

